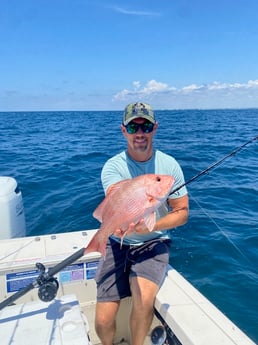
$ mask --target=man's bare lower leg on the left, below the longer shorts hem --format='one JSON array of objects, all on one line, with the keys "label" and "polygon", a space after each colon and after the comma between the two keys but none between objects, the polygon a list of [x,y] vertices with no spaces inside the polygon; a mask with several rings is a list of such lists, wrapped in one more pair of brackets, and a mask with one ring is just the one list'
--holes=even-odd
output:
[{"label": "man's bare lower leg on the left, below the longer shorts hem", "polygon": [[116,314],[120,301],[97,302],[95,329],[103,345],[112,345],[116,332]]}]

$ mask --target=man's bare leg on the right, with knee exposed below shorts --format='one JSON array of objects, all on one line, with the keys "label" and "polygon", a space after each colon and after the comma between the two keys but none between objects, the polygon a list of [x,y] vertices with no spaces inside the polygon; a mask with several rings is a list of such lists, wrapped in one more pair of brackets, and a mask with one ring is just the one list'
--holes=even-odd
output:
[{"label": "man's bare leg on the right, with knee exposed below shorts", "polygon": [[142,277],[132,277],[130,284],[133,301],[130,316],[131,345],[142,345],[151,326],[159,287]]}]

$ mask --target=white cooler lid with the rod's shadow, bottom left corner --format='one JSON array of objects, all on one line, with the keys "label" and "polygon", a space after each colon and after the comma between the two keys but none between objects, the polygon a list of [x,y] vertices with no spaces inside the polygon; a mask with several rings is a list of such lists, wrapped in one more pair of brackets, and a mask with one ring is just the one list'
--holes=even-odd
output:
[{"label": "white cooler lid with the rod's shadow, bottom left corner", "polygon": [[0,311],[3,345],[91,345],[89,325],[75,295],[27,302]]}]

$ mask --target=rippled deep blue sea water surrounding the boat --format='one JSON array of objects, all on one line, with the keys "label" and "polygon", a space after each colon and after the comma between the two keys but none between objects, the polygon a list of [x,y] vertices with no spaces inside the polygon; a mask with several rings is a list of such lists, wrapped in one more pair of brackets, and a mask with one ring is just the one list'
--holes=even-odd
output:
[{"label": "rippled deep blue sea water surrounding the boat", "polygon": [[[189,180],[258,135],[258,110],[157,111],[155,146]],[[125,147],[121,112],[0,113],[0,175],[23,193],[27,235],[97,228],[100,171]],[[258,342],[258,141],[188,185],[171,264]]]}]

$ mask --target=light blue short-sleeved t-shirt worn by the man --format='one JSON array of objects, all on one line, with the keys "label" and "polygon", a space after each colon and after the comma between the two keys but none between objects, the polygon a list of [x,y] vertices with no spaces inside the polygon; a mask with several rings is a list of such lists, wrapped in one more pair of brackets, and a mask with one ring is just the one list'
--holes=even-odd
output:
[{"label": "light blue short-sleeved t-shirt worn by the man", "polygon": [[[182,169],[175,158],[159,150],[154,150],[152,157],[146,162],[137,162],[133,160],[127,154],[127,151],[123,151],[113,156],[103,166],[101,172],[101,181],[106,193],[108,187],[110,187],[112,184],[143,174],[162,174],[173,176],[175,178],[175,183],[171,191],[185,183]],[[187,189],[184,186],[176,193],[171,194],[169,198],[176,199],[186,194]],[[156,211],[157,219],[165,216],[168,212],[168,204],[165,202]],[[159,237],[169,238],[168,231],[152,231],[145,235],[132,234],[130,236],[125,236],[123,243],[140,245],[145,241]],[[117,237],[112,236],[112,238],[120,242],[120,239]]]}]

